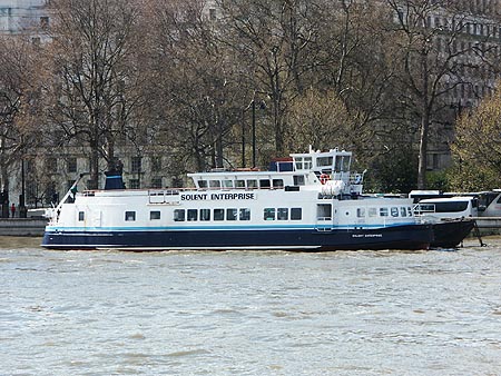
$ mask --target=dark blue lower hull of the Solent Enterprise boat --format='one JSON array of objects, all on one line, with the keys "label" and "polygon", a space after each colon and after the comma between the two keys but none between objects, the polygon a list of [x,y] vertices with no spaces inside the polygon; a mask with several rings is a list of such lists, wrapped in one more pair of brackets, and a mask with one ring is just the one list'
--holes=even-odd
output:
[{"label": "dark blue lower hull of the Solent Enterprise boat", "polygon": [[356,250],[426,249],[433,240],[431,225],[379,229],[317,230],[183,230],[183,231],[46,231],[49,249],[284,249]]}]

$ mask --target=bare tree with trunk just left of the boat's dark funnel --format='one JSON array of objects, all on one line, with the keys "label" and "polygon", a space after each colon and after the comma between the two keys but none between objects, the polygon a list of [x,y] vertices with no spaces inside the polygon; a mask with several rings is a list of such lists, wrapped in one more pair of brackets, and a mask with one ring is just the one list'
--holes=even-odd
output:
[{"label": "bare tree with trunk just left of the boat's dark funnel", "polygon": [[137,135],[139,10],[134,1],[120,0],[55,0],[51,6],[47,116],[66,140],[89,147],[90,185],[97,188],[99,159],[112,169],[118,137]]}]

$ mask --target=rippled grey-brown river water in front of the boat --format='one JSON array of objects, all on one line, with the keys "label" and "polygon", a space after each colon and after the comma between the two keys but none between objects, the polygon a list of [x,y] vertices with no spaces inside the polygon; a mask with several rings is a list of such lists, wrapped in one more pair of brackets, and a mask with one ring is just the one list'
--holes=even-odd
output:
[{"label": "rippled grey-brown river water in front of the boat", "polygon": [[1,375],[500,375],[501,240],[50,251],[0,240]]}]

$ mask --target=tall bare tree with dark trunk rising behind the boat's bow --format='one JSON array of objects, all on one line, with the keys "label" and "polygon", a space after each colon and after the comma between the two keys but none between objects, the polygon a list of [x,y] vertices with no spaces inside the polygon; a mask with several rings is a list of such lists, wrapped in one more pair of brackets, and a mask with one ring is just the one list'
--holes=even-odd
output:
[{"label": "tall bare tree with dark trunk rising behind the boat's bow", "polygon": [[465,56],[473,48],[461,43],[469,22],[456,1],[386,1],[395,16],[394,31],[403,52],[400,101],[407,113],[415,115],[420,127],[418,188],[423,189],[432,127],[440,125],[440,117],[450,108],[454,89],[469,83],[461,73],[470,65]]}]

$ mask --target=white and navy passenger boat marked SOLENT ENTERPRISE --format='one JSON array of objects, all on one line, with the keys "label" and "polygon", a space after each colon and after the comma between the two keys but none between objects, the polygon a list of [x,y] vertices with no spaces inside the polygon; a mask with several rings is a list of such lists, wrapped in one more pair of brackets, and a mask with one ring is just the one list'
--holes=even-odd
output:
[{"label": "white and navy passenger boat marked SOLENT ENTERPRISE", "polygon": [[[292,154],[267,171],[188,174],[194,188],[76,192],[48,211],[42,246],[51,249],[425,249],[432,228],[412,199],[365,197],[352,152]],[[109,182],[109,184],[108,184]]]}]

